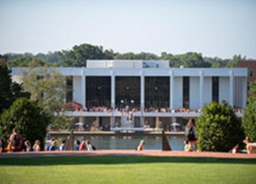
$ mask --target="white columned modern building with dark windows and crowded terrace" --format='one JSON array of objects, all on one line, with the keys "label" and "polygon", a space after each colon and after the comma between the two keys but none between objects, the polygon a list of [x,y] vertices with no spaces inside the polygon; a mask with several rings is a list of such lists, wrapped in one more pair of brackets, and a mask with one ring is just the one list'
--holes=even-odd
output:
[{"label": "white columned modern building with dark windows and crowded terrace", "polygon": [[[26,68],[13,68],[13,79]],[[83,129],[174,130],[201,115],[212,101],[226,101],[241,116],[247,68],[170,68],[168,60],[87,60],[86,68],[54,68],[71,78],[66,111]]]}]

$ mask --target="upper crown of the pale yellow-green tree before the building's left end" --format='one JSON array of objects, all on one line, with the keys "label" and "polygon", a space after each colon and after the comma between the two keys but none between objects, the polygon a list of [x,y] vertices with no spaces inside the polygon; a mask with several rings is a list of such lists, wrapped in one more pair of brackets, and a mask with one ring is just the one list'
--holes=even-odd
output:
[{"label": "upper crown of the pale yellow-green tree before the building's left end", "polygon": [[30,99],[38,102],[46,112],[61,110],[66,97],[66,78],[46,66],[28,68],[22,72],[24,90],[31,93]]}]

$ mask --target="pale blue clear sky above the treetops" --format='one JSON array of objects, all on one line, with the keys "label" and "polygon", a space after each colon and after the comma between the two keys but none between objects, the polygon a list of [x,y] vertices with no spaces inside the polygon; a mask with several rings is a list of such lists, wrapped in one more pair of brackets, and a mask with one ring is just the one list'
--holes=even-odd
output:
[{"label": "pale blue clear sky above the treetops", "polygon": [[121,53],[256,59],[256,0],[0,0],[0,54],[81,43]]}]

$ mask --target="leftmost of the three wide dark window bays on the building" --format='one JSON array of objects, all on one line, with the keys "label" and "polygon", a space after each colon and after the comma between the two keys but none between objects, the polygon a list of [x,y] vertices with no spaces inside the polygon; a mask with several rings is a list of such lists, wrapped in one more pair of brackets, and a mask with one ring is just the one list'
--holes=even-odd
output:
[{"label": "leftmost of the three wide dark window bays on the building", "polygon": [[86,77],[86,107],[111,106],[111,77]]}]

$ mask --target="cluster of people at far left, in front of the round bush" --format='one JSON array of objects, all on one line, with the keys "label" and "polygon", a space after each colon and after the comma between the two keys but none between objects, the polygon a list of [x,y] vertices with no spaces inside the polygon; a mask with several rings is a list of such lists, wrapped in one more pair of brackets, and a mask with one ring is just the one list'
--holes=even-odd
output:
[{"label": "cluster of people at far left, in front of the round bush", "polygon": [[4,139],[0,139],[0,152],[39,152],[41,151],[40,141],[36,140],[35,144],[30,144],[30,141],[24,141],[21,135],[17,132],[17,130],[13,129],[5,144]]}]

